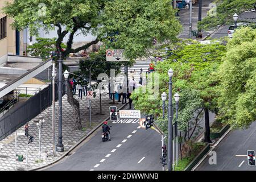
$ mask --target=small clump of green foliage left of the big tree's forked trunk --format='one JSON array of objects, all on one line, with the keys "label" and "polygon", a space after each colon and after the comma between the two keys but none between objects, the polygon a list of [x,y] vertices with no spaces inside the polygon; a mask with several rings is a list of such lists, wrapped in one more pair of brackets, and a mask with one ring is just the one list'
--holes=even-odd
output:
[{"label": "small clump of green foliage left of the big tree's forked trunk", "polygon": [[[36,38],[36,43],[28,46],[27,52],[30,52],[32,56],[42,57],[46,61],[51,58],[51,52],[57,51],[55,46],[56,39]],[[61,44],[61,47],[67,48],[64,44]]]}]

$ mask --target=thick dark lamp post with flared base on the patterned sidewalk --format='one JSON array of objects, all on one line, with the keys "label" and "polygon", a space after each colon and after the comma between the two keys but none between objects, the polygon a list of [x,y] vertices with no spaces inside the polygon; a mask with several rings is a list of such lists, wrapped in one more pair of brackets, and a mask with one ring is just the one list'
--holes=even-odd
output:
[{"label": "thick dark lamp post with flared base on the patterned sidewalk", "polygon": [[[61,56],[60,56],[61,57]],[[56,151],[64,152],[64,145],[62,143],[62,62],[63,60],[59,60],[59,136],[58,136],[58,143],[56,146]]]}]

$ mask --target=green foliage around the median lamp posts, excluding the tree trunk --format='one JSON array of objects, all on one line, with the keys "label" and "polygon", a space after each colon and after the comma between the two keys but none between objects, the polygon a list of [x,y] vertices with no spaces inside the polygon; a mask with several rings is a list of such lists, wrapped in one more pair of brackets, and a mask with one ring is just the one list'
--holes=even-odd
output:
[{"label": "green foliage around the median lamp posts, excluding the tree trunk", "polygon": [[[222,63],[221,58],[225,55],[226,48],[220,43],[203,45],[197,42],[189,42],[188,44],[186,41],[169,47],[172,49],[173,54],[167,60],[158,62],[155,68],[155,73],[159,74],[159,95],[153,97],[154,99],[152,100],[150,99],[152,95],[150,91],[154,87],[152,89],[148,88],[146,93],[141,92],[145,90],[145,87],[142,87],[134,92],[131,98],[133,98],[136,109],[159,117],[156,122],[160,129],[167,134],[168,121],[167,118],[162,119],[160,94],[163,92],[168,93],[169,77],[167,72],[168,69],[172,68],[174,70],[172,92],[175,93],[179,90],[180,94],[178,127],[183,132],[191,132],[195,127],[200,129],[197,125],[198,120],[196,121],[193,114],[197,113],[197,119],[201,119],[200,108],[209,107],[214,110],[217,107],[218,80],[216,72]],[[150,75],[154,77],[155,73]],[[148,82],[152,84],[151,81]],[[175,103],[174,100],[173,103]],[[197,129],[194,132],[198,132]]]}]

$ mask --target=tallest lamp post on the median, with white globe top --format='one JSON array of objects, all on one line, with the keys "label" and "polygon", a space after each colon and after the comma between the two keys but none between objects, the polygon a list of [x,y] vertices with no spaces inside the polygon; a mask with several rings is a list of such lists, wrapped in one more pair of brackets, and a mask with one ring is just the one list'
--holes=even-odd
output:
[{"label": "tallest lamp post on the median, with white globe top", "polygon": [[169,101],[168,101],[168,171],[172,171],[172,76],[174,71],[169,69]]}]

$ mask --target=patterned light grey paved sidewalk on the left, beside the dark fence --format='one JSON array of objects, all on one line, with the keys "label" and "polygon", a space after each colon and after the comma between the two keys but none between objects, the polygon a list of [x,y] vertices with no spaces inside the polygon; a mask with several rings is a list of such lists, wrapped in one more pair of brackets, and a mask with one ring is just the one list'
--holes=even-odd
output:
[{"label": "patterned light grey paved sidewalk on the left, beside the dark fence", "polygon": [[[98,96],[98,94],[97,94]],[[105,115],[96,115],[100,112],[99,97],[93,98],[92,100],[92,127],[89,127],[89,109],[87,108],[86,96],[83,96],[82,100],[75,98],[80,102],[80,114],[82,119],[82,127],[85,128],[84,131],[73,130],[73,110],[71,105],[67,102],[67,95],[63,97],[63,144],[64,152],[56,152],[56,156],[52,156],[52,107],[48,107],[43,111],[38,117],[32,119],[29,125],[28,133],[34,137],[34,142],[28,144],[28,165],[26,166],[26,139],[25,136],[17,137],[17,154],[23,155],[23,162],[16,162],[17,170],[30,170],[33,168],[38,168],[46,166],[49,163],[54,162],[59,159],[74,146],[79,140],[90,131],[92,131],[97,125],[103,122],[106,118],[109,117],[109,104],[112,100],[109,100],[109,94],[104,92],[102,93],[102,113]],[[118,102],[115,106],[120,109],[122,102]],[[58,113],[59,107],[58,102],[55,104],[56,108],[56,143],[57,143],[57,129],[58,129]],[[39,130],[37,128],[34,120],[37,118],[43,117],[45,123],[41,132],[41,151],[43,162],[38,162],[39,159]],[[20,127],[18,131],[24,131],[24,126]],[[0,171],[13,171],[15,170],[15,133],[9,135],[5,139],[0,141]]]}]

